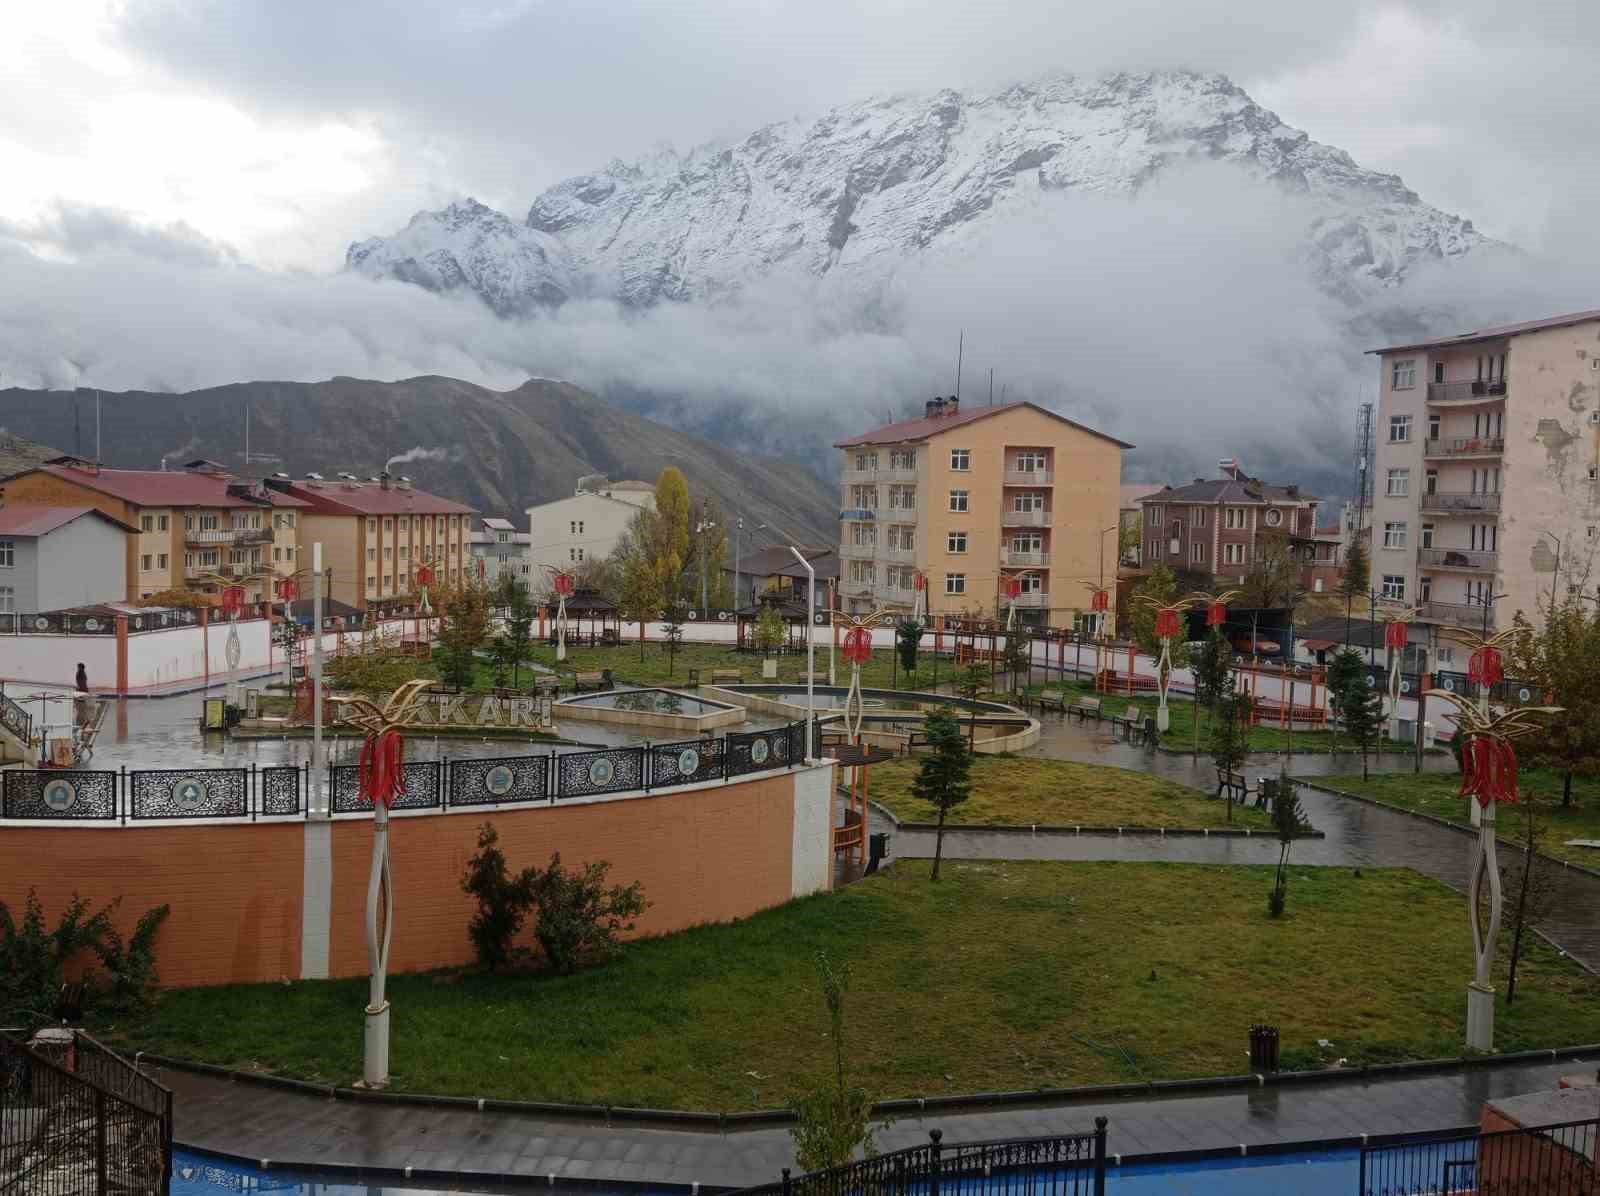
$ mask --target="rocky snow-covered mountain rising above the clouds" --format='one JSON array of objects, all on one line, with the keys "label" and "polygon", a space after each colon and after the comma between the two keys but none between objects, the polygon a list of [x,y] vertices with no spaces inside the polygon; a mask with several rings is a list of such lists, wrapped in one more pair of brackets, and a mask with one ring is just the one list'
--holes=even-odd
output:
[{"label": "rocky snow-covered mountain rising above the clouds", "polygon": [[613,161],[539,195],[523,224],[474,200],[418,213],[394,237],[352,245],[346,264],[467,288],[502,315],[573,296],[702,299],[774,270],[878,278],[1040,195],[1131,195],[1195,160],[1302,195],[1310,267],[1349,297],[1490,245],[1470,221],[1286,126],[1226,77],[1170,72],[874,99],[736,146]]}]

